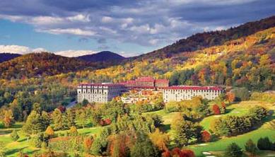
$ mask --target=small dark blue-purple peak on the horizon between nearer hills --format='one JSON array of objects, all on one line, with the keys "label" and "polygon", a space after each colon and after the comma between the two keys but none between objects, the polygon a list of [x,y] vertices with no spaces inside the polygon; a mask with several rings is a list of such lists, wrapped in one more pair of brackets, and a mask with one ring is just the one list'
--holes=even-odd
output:
[{"label": "small dark blue-purple peak on the horizon between nearer hills", "polygon": [[96,54],[88,54],[76,57],[87,62],[117,62],[126,59],[125,57],[110,51],[98,52]]}]

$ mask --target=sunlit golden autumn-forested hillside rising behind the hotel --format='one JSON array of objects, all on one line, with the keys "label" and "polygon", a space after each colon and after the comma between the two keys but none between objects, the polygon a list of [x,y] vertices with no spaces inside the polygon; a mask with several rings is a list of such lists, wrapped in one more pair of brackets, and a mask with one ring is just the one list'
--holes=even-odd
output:
[{"label": "sunlit golden autumn-forested hillside rising behind the hotel", "polygon": [[223,45],[179,52],[165,59],[136,59],[123,66],[76,73],[78,79],[94,82],[125,81],[138,76],[167,78],[172,85],[275,89],[275,27]]}]

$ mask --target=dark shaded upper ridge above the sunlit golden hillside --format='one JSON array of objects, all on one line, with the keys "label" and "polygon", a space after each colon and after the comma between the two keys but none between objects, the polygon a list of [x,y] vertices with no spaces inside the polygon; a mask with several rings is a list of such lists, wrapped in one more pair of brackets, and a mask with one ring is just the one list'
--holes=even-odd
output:
[{"label": "dark shaded upper ridge above the sunlit golden hillside", "polygon": [[258,31],[272,28],[275,26],[275,16],[264,18],[260,21],[245,23],[235,28],[221,31],[211,31],[208,33],[197,33],[186,39],[179,40],[172,45],[163,47],[160,50],[142,54],[132,59],[155,59],[172,57],[180,52],[192,52],[202,50],[207,47],[223,45],[230,40],[236,40],[240,37],[247,37]]}]

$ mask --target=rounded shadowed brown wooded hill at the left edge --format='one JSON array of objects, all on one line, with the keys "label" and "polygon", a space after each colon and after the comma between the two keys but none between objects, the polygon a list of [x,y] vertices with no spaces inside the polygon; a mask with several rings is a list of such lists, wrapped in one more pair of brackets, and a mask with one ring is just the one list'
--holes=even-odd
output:
[{"label": "rounded shadowed brown wooded hill at the left edge", "polygon": [[23,77],[52,76],[71,71],[102,67],[103,65],[93,62],[62,57],[48,52],[31,53],[0,63],[0,78],[21,79]]}]

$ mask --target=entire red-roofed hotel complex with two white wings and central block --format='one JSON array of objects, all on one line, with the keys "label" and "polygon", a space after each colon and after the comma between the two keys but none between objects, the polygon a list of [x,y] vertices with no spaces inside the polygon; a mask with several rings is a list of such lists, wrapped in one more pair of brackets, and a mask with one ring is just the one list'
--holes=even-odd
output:
[{"label": "entire red-roofed hotel complex with two white wings and central block", "polygon": [[123,92],[131,89],[162,90],[163,101],[191,100],[195,96],[201,96],[213,100],[223,91],[216,86],[169,86],[167,79],[153,79],[152,77],[140,77],[136,80],[122,83],[83,83],[77,88],[77,101],[84,99],[92,103],[107,103]]}]

